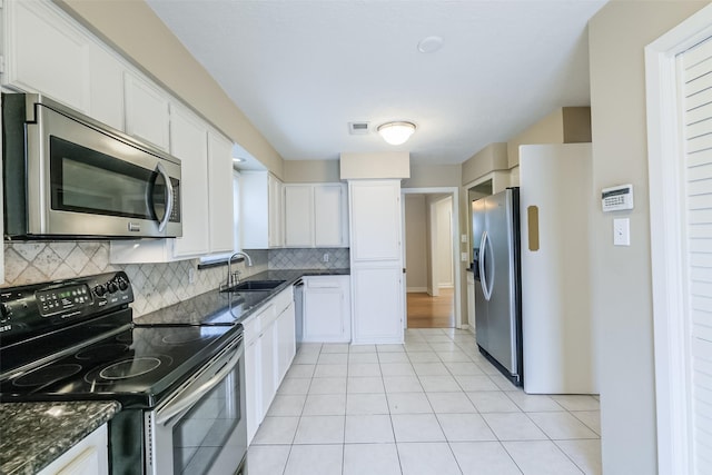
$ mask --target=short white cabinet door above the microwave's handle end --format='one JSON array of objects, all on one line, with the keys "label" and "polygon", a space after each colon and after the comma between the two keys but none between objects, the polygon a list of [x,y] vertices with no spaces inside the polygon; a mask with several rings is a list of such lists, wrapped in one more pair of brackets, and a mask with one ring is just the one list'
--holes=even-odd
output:
[{"label": "short white cabinet door above the microwave's handle end", "polygon": [[158,88],[130,72],[123,75],[126,132],[169,149],[169,100]]}]

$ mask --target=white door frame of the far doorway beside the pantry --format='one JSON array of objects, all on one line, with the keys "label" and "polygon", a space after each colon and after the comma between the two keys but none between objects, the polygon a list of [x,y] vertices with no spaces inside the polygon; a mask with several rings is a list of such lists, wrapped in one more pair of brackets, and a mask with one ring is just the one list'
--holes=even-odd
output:
[{"label": "white door frame of the far doorway beside the pantry", "polygon": [[[405,236],[405,195],[423,194],[423,195],[451,195],[453,199],[453,220],[452,220],[452,238],[453,238],[453,271],[454,271],[454,286],[455,291],[453,294],[455,307],[455,328],[463,327],[463,316],[461,308],[461,273],[457,271],[457,264],[459,263],[459,201],[458,201],[458,187],[433,187],[433,188],[402,188],[400,189],[400,207],[402,207],[402,235],[403,235],[403,265],[405,266],[405,250],[406,250],[406,236]],[[405,267],[404,267],[405,269]],[[405,276],[405,273],[404,273]],[[403,324],[407,327],[408,321],[408,306],[407,306],[407,288],[406,278],[403,279]]]}]

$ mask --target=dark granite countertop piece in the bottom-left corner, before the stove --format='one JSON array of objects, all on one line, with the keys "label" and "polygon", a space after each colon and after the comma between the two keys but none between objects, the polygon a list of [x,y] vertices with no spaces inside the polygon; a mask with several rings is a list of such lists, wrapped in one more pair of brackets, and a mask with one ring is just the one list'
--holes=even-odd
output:
[{"label": "dark granite countertop piece in the bottom-left corner, before the stove", "polygon": [[36,474],[121,409],[117,402],[0,404],[0,474]]}]

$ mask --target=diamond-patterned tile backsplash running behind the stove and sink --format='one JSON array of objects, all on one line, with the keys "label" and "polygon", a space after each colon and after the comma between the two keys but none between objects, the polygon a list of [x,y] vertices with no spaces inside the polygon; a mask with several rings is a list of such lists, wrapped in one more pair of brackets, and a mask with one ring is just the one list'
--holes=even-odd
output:
[{"label": "diamond-patterned tile backsplash running behind the stove and sink", "polygon": [[[349,265],[348,249],[247,253],[254,265],[237,265],[243,278],[267,269],[330,269]],[[135,301],[131,306],[134,316],[138,317],[212,290],[222,283],[227,273],[225,266],[198,270],[198,259],[168,264],[110,264],[108,241],[6,243],[6,281],[2,287],[123,270],[132,283]]]}]

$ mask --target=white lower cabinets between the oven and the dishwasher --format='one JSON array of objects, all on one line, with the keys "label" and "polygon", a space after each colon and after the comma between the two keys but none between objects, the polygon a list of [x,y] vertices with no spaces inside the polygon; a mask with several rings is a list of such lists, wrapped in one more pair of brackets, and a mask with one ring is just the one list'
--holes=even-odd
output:
[{"label": "white lower cabinets between the oven and the dishwasher", "polygon": [[259,428],[296,352],[291,287],[245,324],[247,442]]}]

